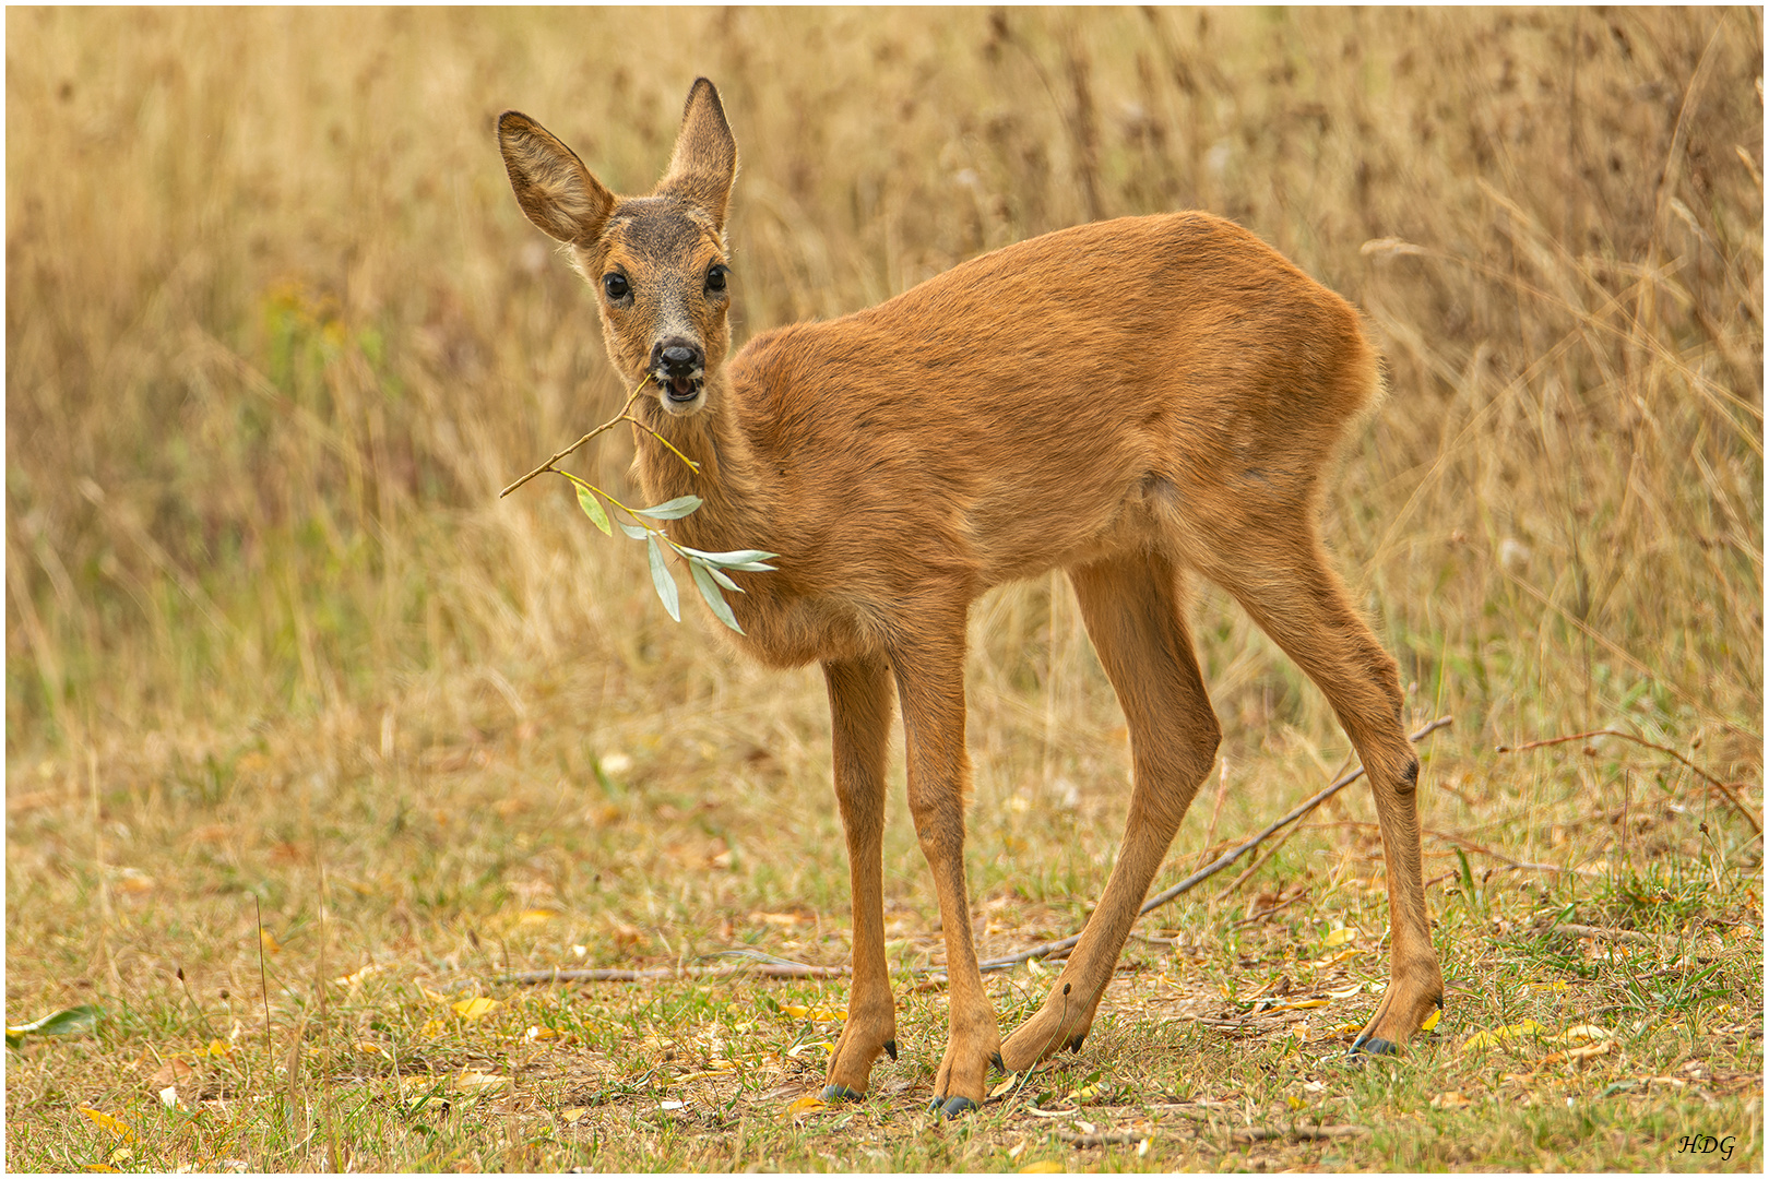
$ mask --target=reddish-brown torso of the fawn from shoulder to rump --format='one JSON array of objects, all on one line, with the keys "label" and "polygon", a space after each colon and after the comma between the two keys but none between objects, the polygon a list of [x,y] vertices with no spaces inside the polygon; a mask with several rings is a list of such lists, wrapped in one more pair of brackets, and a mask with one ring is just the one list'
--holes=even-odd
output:
[{"label": "reddish-brown torso of the fawn from shoulder to rump", "polygon": [[782,497],[877,513],[895,559],[982,585],[1134,541],[1155,504],[1307,511],[1376,389],[1350,304],[1196,212],[998,249],[876,308],[757,336],[729,371]]}]

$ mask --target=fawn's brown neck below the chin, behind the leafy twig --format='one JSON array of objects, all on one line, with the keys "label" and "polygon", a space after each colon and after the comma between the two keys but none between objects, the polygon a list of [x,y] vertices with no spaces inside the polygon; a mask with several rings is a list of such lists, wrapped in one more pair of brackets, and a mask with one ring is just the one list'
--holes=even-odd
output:
[{"label": "fawn's brown neck below the chin, behind the leafy twig", "polygon": [[[633,407],[637,417],[649,426],[633,431],[639,438],[637,467],[646,502],[701,497],[699,511],[667,525],[669,534],[683,544],[706,550],[768,548],[768,513],[757,479],[755,449],[738,426],[724,375],[715,378],[706,396],[706,407],[692,417],[665,412],[651,396],[640,398]],[[699,470],[690,468],[683,458],[693,460]]]}]

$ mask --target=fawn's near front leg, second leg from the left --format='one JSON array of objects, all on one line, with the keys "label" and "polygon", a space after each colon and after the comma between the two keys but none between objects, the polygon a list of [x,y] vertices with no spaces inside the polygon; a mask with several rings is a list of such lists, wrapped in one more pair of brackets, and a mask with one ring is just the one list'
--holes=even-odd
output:
[{"label": "fawn's near front leg, second leg from the left", "polygon": [[950,997],[946,1055],[934,1075],[934,1108],[957,1117],[984,1103],[989,1066],[1001,1061],[1001,1032],[984,993],[971,942],[971,907],[964,882],[964,801],[969,758],[964,753],[964,619],[939,636],[918,636],[892,654],[909,762],[909,813],[934,875],[946,937]]}]

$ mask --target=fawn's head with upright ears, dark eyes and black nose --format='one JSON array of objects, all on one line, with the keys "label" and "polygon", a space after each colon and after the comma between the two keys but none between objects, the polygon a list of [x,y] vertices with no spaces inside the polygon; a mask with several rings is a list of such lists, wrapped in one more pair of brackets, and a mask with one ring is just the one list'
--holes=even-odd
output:
[{"label": "fawn's head with upright ears, dark eyes and black nose", "polygon": [[649,377],[670,414],[697,412],[731,345],[725,207],[738,143],[718,90],[706,78],[688,90],[669,171],[649,196],[616,196],[520,111],[499,117],[497,145],[522,212],[571,247],[596,290],[614,366],[635,384]]}]

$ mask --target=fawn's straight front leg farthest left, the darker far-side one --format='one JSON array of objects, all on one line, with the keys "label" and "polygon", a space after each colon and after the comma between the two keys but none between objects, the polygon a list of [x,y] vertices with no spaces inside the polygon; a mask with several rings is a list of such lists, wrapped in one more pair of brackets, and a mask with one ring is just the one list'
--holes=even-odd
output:
[{"label": "fawn's straight front leg farthest left, the darker far-side one", "polygon": [[897,1004],[884,963],[884,742],[890,735],[890,677],[883,659],[824,663],[835,734],[835,799],[847,834],[853,882],[854,983],[847,1023],[830,1055],[824,1101],[860,1099],[879,1052],[897,1059]]}]

